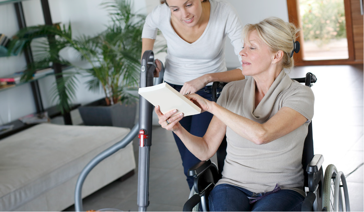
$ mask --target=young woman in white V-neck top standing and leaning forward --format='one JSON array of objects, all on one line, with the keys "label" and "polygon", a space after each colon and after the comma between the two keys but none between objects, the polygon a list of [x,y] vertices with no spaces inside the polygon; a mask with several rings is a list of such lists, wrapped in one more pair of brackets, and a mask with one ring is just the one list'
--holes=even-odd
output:
[{"label": "young woman in white V-neck top standing and leaning forward", "polygon": [[[142,33],[143,48],[153,50],[158,29],[167,41],[164,80],[182,94],[197,93],[211,100],[213,81],[242,80],[241,67],[227,71],[226,37],[238,53],[242,47],[241,21],[232,6],[219,0],[166,0],[147,16]],[[240,59],[239,59],[240,60]],[[155,76],[161,63],[156,61]],[[180,124],[192,135],[203,136],[212,118],[201,113],[183,119]],[[198,160],[174,135],[184,172]],[[193,178],[187,177],[189,187]]]}]

